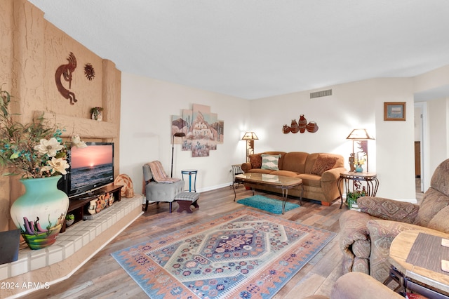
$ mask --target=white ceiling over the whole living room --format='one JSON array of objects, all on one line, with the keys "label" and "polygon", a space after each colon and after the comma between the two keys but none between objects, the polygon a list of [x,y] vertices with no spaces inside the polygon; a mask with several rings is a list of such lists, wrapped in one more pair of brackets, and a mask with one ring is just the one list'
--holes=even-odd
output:
[{"label": "white ceiling over the whole living room", "polygon": [[29,0],[122,72],[255,99],[449,65],[447,0]]}]

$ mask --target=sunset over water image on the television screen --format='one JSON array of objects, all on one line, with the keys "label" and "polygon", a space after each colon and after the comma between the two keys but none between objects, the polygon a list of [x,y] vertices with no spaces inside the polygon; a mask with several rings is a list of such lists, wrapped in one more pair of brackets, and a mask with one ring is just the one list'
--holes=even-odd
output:
[{"label": "sunset over water image on the television screen", "polygon": [[72,168],[98,166],[112,163],[112,146],[89,145],[85,148],[72,147]]}]

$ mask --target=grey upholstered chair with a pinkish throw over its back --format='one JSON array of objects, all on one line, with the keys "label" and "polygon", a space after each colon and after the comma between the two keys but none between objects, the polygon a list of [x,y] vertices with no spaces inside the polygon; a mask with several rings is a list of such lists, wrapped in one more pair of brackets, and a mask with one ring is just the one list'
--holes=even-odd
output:
[{"label": "grey upholstered chair with a pinkish throw over its back", "polygon": [[[154,161],[153,161],[154,162]],[[152,162],[150,162],[152,163]],[[160,162],[159,162],[160,164]],[[171,182],[156,182],[150,168],[150,164],[144,164],[143,179],[144,179],[144,194],[146,197],[145,211],[148,209],[150,202],[168,202],[170,205],[170,213],[172,211],[172,204],[175,200],[175,195],[184,191],[183,180],[173,180]],[[163,172],[163,170],[161,170]],[[165,172],[163,172],[164,175]]]}]

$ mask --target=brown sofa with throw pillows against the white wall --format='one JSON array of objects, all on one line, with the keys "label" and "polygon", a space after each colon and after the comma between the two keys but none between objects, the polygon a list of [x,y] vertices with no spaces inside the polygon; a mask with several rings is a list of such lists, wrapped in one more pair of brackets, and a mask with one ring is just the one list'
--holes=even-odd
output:
[{"label": "brown sofa with throw pillows against the white wall", "polygon": [[[262,168],[262,155],[281,155],[278,170]],[[305,199],[321,201],[323,206],[330,206],[335,199],[340,198],[337,180],[340,173],[346,171],[344,159],[340,154],[324,154],[307,152],[262,152],[250,155],[250,162],[243,163],[241,169],[245,173],[270,173],[273,175],[286,175],[302,178]],[[260,190],[270,192],[282,191],[270,186],[245,184],[246,187],[257,187]],[[301,187],[295,187],[288,191],[289,195],[300,197]]]}]

